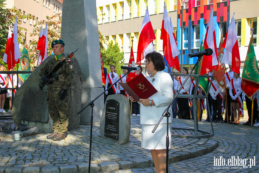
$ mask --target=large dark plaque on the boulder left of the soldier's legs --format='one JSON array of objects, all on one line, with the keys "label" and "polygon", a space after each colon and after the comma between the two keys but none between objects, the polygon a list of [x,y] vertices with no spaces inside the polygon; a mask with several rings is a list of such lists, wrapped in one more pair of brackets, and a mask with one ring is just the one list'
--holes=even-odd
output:
[{"label": "large dark plaque on the boulder left of the soldier's legs", "polygon": [[28,87],[22,98],[19,118],[27,121],[48,121],[47,91],[39,90],[39,87]]}]

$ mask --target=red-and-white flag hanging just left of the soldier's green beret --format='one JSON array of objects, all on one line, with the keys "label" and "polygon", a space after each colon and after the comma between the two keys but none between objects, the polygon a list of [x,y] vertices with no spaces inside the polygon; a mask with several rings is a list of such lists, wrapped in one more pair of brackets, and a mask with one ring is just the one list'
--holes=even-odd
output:
[{"label": "red-and-white flag hanging just left of the soldier's green beret", "polygon": [[43,32],[42,26],[41,26],[39,41],[37,45],[37,50],[39,50],[38,65],[40,65],[47,58],[47,47],[48,47],[48,28],[47,27],[48,27],[48,22]]}]

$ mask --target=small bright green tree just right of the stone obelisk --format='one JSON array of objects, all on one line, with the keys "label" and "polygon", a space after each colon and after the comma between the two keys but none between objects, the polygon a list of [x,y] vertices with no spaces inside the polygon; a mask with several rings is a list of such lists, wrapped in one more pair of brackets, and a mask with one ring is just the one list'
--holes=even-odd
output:
[{"label": "small bright green tree just right of the stone obelisk", "polygon": [[101,49],[103,66],[107,68],[107,73],[110,72],[110,65],[115,65],[117,74],[122,74],[120,68],[124,63],[124,52],[121,52],[118,43],[113,44],[113,41],[108,43],[107,49]]}]

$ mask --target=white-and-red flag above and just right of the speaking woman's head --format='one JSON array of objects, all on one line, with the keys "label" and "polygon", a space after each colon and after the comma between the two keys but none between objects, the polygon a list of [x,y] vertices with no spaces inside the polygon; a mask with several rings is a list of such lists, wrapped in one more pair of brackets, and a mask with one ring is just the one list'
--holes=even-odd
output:
[{"label": "white-and-red flag above and just right of the speaking woman's head", "polygon": [[172,20],[171,23],[169,22],[165,2],[160,39],[163,40],[163,53],[167,63],[170,67],[174,67],[178,70],[178,72],[180,72],[180,65],[178,60],[178,55],[180,52],[176,44]]}]

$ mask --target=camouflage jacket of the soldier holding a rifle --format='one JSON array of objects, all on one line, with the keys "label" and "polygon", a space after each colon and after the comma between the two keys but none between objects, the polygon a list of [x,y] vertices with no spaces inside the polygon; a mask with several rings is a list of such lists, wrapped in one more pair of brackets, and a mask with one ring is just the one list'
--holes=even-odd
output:
[{"label": "camouflage jacket of the soldier holding a rifle", "polygon": [[[40,79],[42,76],[47,76],[49,72],[63,59],[66,57],[62,54],[57,60],[55,57],[50,59],[41,69],[39,76]],[[50,78],[52,82],[61,82],[61,84],[48,84],[48,90],[60,90],[65,89],[68,90],[68,87],[71,85],[71,82],[74,78],[74,65],[71,59],[67,59],[67,61],[60,67],[56,72],[58,79]]]}]

